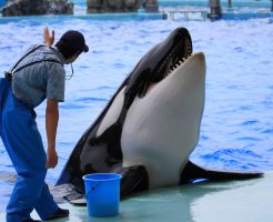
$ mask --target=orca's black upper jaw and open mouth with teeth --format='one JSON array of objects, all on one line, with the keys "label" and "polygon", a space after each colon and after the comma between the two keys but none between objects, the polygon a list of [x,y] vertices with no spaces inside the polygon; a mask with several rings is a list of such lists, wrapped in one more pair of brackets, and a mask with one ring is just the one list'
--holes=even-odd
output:
[{"label": "orca's black upper jaw and open mouth with teeth", "polygon": [[175,29],[164,41],[152,48],[132,71],[124,92],[130,98],[128,107],[135,95],[145,97],[148,90],[183,65],[191,54],[192,39],[189,31],[184,28]]}]

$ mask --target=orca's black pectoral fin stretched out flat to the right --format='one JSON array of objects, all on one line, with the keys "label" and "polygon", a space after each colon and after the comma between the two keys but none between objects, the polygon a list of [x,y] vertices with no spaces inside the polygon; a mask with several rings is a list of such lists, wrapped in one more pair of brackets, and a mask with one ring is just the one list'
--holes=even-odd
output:
[{"label": "orca's black pectoral fin stretched out flat to the right", "polygon": [[244,180],[259,178],[263,175],[260,171],[228,171],[228,170],[211,170],[201,168],[193,162],[189,161],[181,172],[180,183],[190,183],[196,179],[209,179],[213,181],[224,180]]}]

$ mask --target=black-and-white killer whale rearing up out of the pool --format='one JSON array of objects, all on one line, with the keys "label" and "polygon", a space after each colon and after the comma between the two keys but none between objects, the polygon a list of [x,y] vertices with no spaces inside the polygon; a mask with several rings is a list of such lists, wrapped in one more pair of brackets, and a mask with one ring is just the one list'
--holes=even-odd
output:
[{"label": "black-and-white killer whale rearing up out of the pool", "polygon": [[82,175],[123,175],[121,196],[194,179],[249,179],[261,172],[215,171],[189,160],[204,109],[205,58],[192,54],[189,31],[178,28],[148,53],[83,133],[58,182],[84,193]]}]

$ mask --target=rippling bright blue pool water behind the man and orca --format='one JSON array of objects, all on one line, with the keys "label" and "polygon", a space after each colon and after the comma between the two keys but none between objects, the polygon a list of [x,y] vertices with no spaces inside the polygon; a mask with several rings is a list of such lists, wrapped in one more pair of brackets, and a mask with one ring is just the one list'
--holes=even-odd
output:
[{"label": "rippling bright blue pool water behind the man and orca", "polygon": [[[194,51],[206,57],[205,109],[192,161],[209,168],[273,169],[273,26],[269,19],[244,21],[170,21],[28,18],[0,23],[0,73],[29,44],[42,42],[43,28],[57,39],[69,30],[84,33],[90,51],[74,63],[60,104],[59,164],[49,170],[54,184],[75,143],[94,121],[141,57],[176,27],[185,27]],[[70,69],[68,67],[68,73]],[[37,109],[44,147],[44,103]],[[16,173],[0,142],[0,212],[4,211]]]}]

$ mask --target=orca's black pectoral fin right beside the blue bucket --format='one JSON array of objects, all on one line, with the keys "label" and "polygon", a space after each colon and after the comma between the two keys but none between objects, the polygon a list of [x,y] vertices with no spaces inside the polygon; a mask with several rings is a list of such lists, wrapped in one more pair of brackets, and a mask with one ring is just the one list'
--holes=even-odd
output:
[{"label": "orca's black pectoral fin right beside the blue bucket", "polygon": [[127,168],[118,165],[111,169],[110,172],[122,175],[120,189],[121,198],[139,191],[148,190],[149,188],[149,176],[143,165],[133,165]]}]

